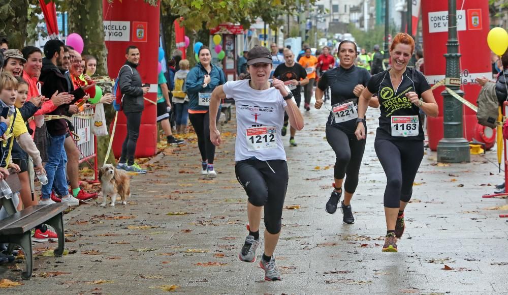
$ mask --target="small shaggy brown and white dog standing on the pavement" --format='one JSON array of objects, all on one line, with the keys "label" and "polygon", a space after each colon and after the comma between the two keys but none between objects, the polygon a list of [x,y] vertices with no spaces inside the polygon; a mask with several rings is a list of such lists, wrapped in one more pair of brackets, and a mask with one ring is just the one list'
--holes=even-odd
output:
[{"label": "small shaggy brown and white dog standing on the pavement", "polygon": [[103,197],[101,206],[106,205],[108,194],[111,195],[111,206],[115,205],[117,196],[120,196],[122,204],[127,204],[127,197],[131,196],[131,181],[124,170],[106,164],[99,169],[99,180],[101,181]]}]

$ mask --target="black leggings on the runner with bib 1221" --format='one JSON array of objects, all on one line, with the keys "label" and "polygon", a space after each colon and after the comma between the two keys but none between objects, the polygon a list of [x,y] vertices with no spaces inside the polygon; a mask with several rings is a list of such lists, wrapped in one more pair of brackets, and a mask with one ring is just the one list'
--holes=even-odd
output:
[{"label": "black leggings on the runner with bib 1221", "polygon": [[354,133],[346,134],[337,126],[330,124],[326,125],[326,140],[335,152],[333,177],[343,179],[347,174],[344,189],[348,193],[354,193],[358,186],[358,173],[362,164],[366,140],[358,140]]}]

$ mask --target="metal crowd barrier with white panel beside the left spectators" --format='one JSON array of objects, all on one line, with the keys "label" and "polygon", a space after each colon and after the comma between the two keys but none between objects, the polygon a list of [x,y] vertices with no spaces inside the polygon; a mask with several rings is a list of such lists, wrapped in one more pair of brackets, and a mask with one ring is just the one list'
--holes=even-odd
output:
[{"label": "metal crowd barrier with white panel beside the left spectators", "polygon": [[[76,146],[80,152],[79,163],[88,162],[94,159],[93,171],[95,180],[98,177],[98,162],[97,162],[97,138],[93,135],[91,125],[93,123],[94,109],[87,109],[79,114],[72,116],[72,124],[74,125],[74,133],[79,136],[79,140],[75,141]],[[90,163],[89,163],[90,164]],[[91,165],[91,164],[90,164]]]}]

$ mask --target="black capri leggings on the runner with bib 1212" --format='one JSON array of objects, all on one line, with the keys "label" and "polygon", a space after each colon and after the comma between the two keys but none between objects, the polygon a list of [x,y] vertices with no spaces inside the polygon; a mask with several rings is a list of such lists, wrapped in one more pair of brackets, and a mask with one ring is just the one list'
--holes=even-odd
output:
[{"label": "black capri leggings on the runner with bib 1212", "polygon": [[235,174],[247,193],[249,203],[264,206],[266,230],[271,234],[279,233],[288,189],[288,163],[285,160],[261,161],[251,158],[237,161]]}]

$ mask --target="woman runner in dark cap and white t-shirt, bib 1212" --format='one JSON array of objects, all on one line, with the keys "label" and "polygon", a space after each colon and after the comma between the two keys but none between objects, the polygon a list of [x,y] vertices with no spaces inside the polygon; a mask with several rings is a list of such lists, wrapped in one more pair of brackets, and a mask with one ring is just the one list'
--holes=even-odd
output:
[{"label": "woman runner in dark cap and white t-shirt, bib 1212", "polygon": [[[220,100],[232,97],[236,104],[237,136],[235,143],[235,173],[248,196],[247,229],[249,234],[238,257],[254,262],[261,244],[259,225],[261,210],[265,211],[265,251],[260,265],[265,280],[280,280],[280,272],[272,258],[277,245],[282,208],[288,187],[288,165],[281,140],[284,110],[291,126],[303,129],[303,117],[284,82],[268,81],[273,68],[270,51],[257,46],[250,49],[247,71],[250,80],[227,82],[212,93],[210,117],[214,118]],[[210,140],[218,146],[220,133],[215,120],[210,120]]]}]

